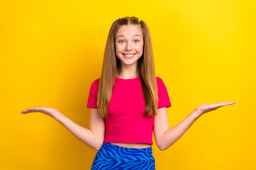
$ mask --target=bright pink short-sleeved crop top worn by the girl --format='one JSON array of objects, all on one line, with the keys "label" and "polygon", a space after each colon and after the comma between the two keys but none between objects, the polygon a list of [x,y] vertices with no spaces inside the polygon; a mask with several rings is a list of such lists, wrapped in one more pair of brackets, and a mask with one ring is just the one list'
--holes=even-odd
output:
[{"label": "bright pink short-sleeved crop top worn by the girl", "polygon": [[[99,79],[92,82],[87,108],[97,108]],[[122,79],[116,77],[112,98],[105,116],[104,142],[149,143],[153,145],[154,115],[144,115],[145,103],[142,91],[142,77]],[[169,108],[171,102],[164,81],[156,77],[159,93],[159,108]]]}]

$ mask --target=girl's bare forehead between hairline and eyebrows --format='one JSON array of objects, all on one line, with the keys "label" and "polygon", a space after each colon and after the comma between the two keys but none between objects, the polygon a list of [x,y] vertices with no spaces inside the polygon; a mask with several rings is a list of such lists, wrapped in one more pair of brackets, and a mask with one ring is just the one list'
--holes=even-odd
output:
[{"label": "girl's bare forehead between hairline and eyebrows", "polygon": [[117,37],[133,37],[134,35],[139,35],[142,38],[142,27],[139,25],[127,25],[121,26],[116,33]]}]

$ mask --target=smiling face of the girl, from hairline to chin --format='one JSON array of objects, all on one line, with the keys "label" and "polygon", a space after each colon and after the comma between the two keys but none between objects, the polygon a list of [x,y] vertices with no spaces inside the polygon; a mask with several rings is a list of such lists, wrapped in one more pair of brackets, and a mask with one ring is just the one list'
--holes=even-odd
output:
[{"label": "smiling face of the girl, from hairline to chin", "polygon": [[136,64],[143,54],[143,35],[141,26],[121,26],[115,37],[116,55],[121,64]]}]

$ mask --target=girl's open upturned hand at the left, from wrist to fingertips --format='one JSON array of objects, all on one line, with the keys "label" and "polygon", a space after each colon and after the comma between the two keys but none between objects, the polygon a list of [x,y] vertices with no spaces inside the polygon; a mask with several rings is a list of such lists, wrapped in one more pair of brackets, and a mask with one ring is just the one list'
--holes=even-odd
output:
[{"label": "girl's open upturned hand at the left, from wrist to fingertips", "polygon": [[53,117],[53,115],[60,113],[57,108],[46,108],[43,106],[38,106],[35,108],[28,108],[23,111],[21,111],[21,114],[26,114],[26,113],[33,113],[33,112],[41,112],[46,115],[49,115],[50,117]]}]

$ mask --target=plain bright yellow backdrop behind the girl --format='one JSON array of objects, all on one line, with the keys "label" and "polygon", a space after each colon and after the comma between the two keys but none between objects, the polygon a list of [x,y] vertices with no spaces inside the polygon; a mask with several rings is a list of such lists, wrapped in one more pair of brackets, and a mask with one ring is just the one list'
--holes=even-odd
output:
[{"label": "plain bright yellow backdrop behind the girl", "polygon": [[[0,169],[90,169],[96,150],[43,113],[89,128],[86,108],[100,77],[112,23],[149,26],[156,76],[166,84],[170,126],[202,103],[206,113],[171,147],[154,141],[156,169],[256,169],[255,1],[1,1]],[[153,137],[154,139],[154,137]]]}]

